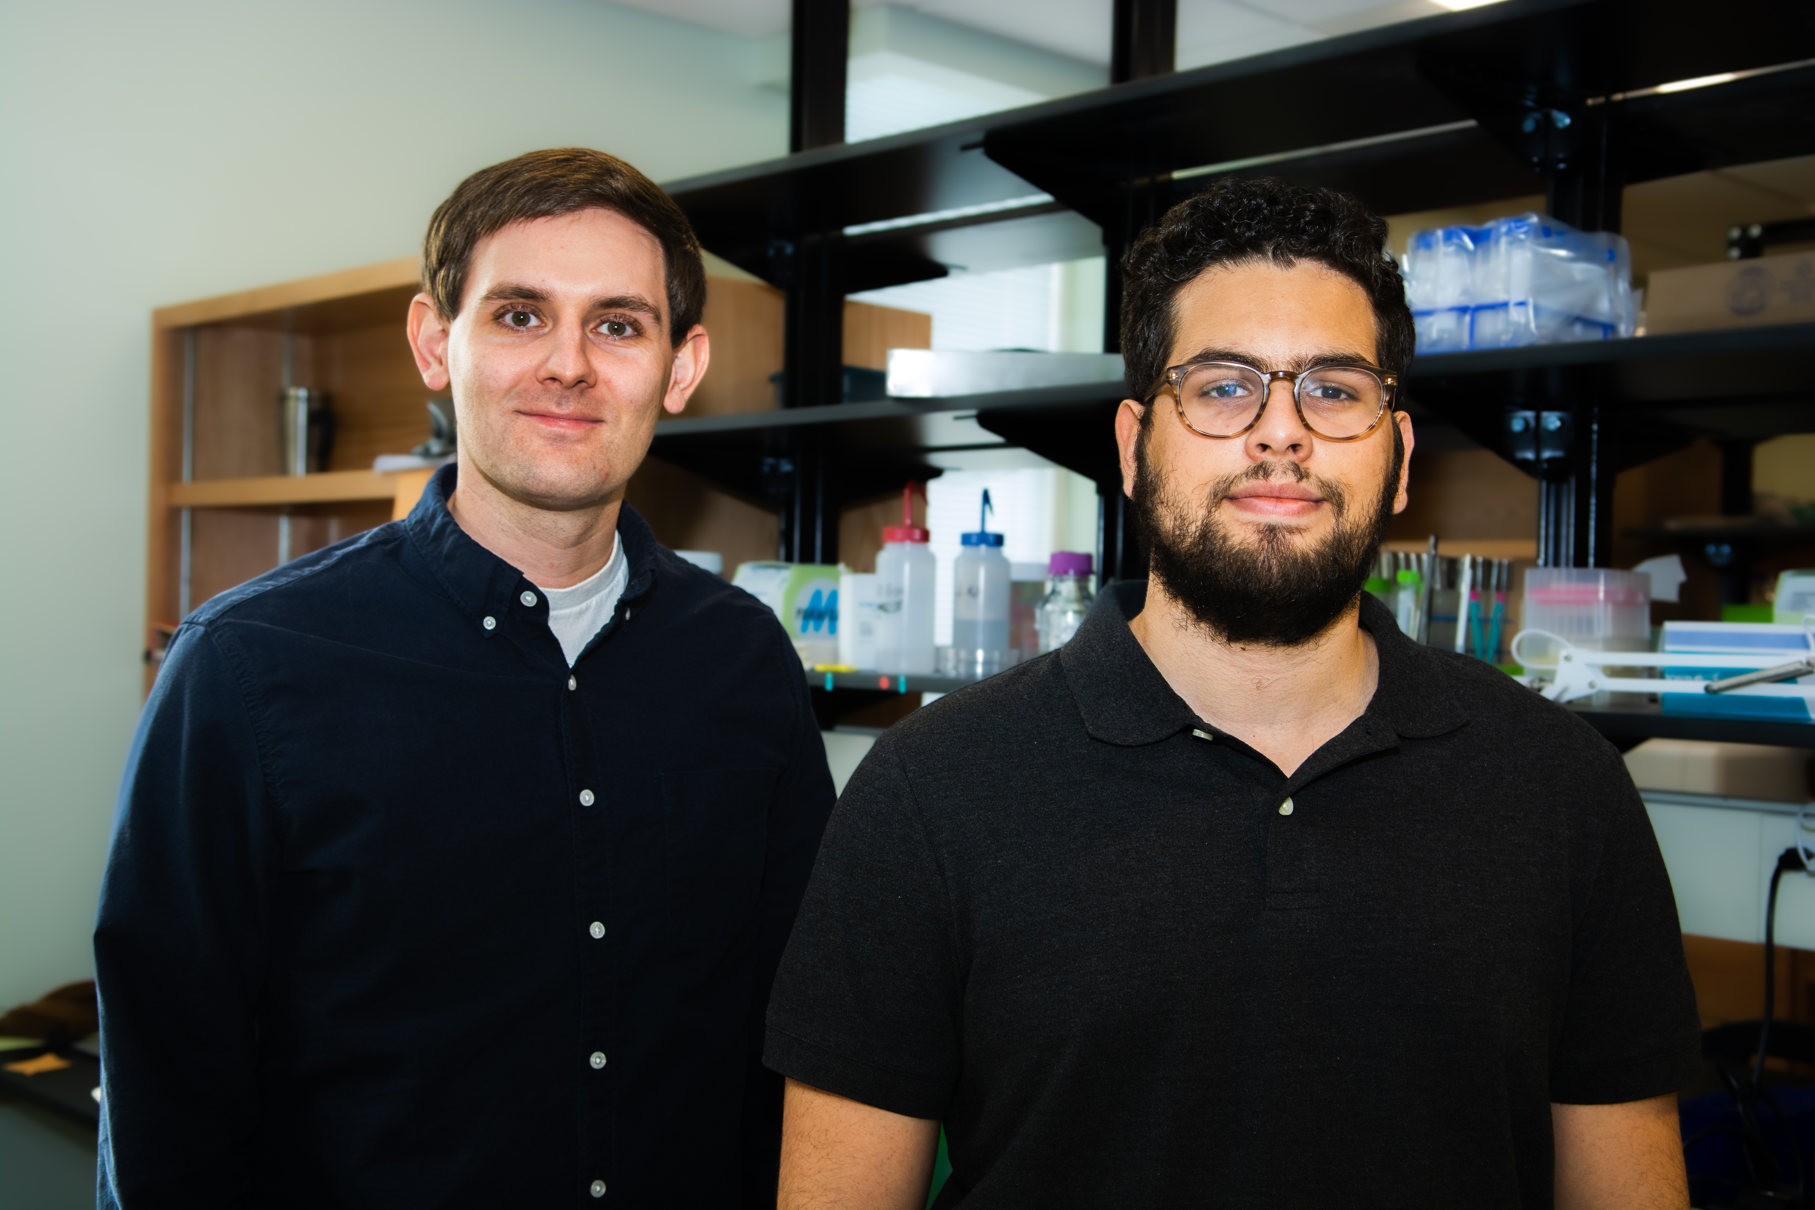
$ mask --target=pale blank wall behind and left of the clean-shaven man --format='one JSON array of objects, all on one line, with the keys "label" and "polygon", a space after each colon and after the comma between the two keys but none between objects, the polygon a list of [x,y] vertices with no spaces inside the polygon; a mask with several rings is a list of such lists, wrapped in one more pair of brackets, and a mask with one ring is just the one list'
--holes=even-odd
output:
[{"label": "pale blank wall behind and left of the clean-shaven man", "polygon": [[89,976],[140,706],[149,312],[417,249],[468,172],[786,152],[753,44],[604,0],[0,0],[0,1009]]}]

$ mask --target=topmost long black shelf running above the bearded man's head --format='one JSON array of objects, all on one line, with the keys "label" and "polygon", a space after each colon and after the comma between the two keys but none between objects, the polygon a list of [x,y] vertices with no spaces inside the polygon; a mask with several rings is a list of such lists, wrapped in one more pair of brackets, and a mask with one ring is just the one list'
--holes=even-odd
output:
[{"label": "topmost long black shelf running above the bearded man's head", "polygon": [[[1808,58],[1815,9],[1804,0],[1717,11],[1701,0],[1505,0],[686,178],[668,190],[706,247],[777,285],[788,283],[790,245],[815,230],[1040,192],[1064,207],[1035,201],[857,236],[846,288],[860,290],[942,276],[942,258],[957,254],[933,236],[973,223],[1002,232],[966,245],[978,263],[957,263],[969,268],[987,258],[1084,256],[1091,234],[1078,216],[1122,232],[1131,207],[1158,214],[1216,176],[1330,185],[1398,214],[1545,192],[1548,180],[1592,158],[1603,134],[1617,138],[1626,183],[1806,154],[1815,147],[1815,67],[1621,94]],[[1568,125],[1557,127],[1552,112]],[[1546,122],[1526,131],[1534,114]]]}]

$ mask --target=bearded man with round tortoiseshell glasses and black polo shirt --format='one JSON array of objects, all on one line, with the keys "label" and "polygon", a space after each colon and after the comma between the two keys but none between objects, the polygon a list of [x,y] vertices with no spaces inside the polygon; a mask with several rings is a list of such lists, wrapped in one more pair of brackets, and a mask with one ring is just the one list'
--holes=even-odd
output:
[{"label": "bearded man with round tortoiseshell glasses and black polo shirt", "polygon": [[1412,317],[1354,200],[1125,259],[1147,582],[886,735],[770,1005],[780,1206],[1686,1206],[1697,1016],[1619,755],[1361,586]]}]

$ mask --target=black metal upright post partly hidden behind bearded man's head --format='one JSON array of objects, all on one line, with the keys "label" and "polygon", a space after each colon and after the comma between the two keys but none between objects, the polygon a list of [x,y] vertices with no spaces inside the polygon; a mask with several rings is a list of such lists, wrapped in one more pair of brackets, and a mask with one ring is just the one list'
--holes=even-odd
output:
[{"label": "black metal upright post partly hidden behind bearded man's head", "polygon": [[[1109,83],[1127,83],[1169,74],[1178,47],[1178,0],[1114,0],[1109,40]],[[1104,227],[1107,263],[1104,298],[1104,352],[1122,348],[1122,256],[1134,238],[1160,220],[1160,181],[1142,172],[1122,187],[1122,223]],[[1096,484],[1102,497],[1098,522],[1098,568],[1104,581],[1145,579],[1134,519],[1122,493],[1122,481]]]}]

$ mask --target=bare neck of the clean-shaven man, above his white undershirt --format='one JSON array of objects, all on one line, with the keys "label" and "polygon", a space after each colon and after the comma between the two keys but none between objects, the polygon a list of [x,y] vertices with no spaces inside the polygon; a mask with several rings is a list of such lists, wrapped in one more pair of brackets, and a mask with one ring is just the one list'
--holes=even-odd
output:
[{"label": "bare neck of the clean-shaven man, above his white undershirt", "polygon": [[572,588],[606,564],[617,548],[617,515],[624,497],[592,508],[552,512],[515,501],[466,457],[448,512],[466,537],[523,571],[543,588]]}]

